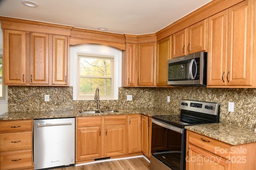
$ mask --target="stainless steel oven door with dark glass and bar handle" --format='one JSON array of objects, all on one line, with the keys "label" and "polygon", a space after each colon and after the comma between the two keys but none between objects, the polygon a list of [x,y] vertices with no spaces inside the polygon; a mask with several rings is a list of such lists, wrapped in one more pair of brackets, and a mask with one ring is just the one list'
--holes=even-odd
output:
[{"label": "stainless steel oven door with dark glass and bar handle", "polygon": [[185,170],[185,129],[152,119],[150,170]]}]

